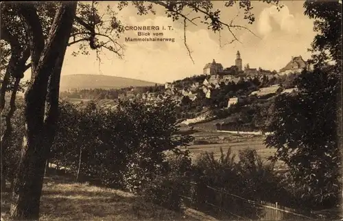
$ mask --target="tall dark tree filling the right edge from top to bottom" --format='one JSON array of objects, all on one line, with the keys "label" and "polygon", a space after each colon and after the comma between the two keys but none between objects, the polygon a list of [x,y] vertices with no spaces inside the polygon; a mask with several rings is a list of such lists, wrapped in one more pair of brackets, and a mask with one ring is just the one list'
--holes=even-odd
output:
[{"label": "tall dark tree filling the right edge from top to bottom", "polygon": [[[306,1],[305,14],[316,19],[311,51],[314,71],[296,79],[299,92],[280,95],[265,142],[276,148],[274,160],[284,161],[297,189],[316,206],[332,207],[340,201],[342,156],[342,3]],[[338,53],[339,52],[339,53]],[[334,60],[335,65],[327,65]]]}]

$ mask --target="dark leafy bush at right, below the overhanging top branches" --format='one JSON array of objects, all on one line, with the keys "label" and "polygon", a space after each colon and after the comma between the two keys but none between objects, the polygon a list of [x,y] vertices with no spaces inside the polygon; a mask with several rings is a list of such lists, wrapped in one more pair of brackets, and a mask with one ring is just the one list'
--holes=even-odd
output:
[{"label": "dark leafy bush at right, below the overhanging top branches", "polygon": [[[276,148],[274,159],[284,161],[304,194],[321,203],[340,191],[341,157],[338,149],[337,106],[332,68],[304,71],[298,79],[300,93],[276,97],[266,139]],[[337,199],[338,200],[338,199]]]}]

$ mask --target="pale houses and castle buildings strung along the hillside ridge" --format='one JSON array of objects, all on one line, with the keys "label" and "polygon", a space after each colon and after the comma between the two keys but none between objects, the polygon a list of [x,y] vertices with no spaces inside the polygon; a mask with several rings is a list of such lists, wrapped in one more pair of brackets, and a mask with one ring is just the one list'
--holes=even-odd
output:
[{"label": "pale houses and castle buildings strung along the hillside ridge", "polygon": [[[242,59],[239,51],[236,54],[235,65],[223,68],[222,64],[215,62],[210,62],[204,66],[203,74],[209,75],[203,82],[193,82],[191,86],[187,86],[182,89],[176,89],[174,84],[171,82],[165,83],[165,91],[163,93],[159,92],[146,92],[135,94],[133,89],[127,91],[124,94],[118,95],[119,100],[134,100],[140,99],[147,103],[154,103],[158,100],[164,100],[167,97],[171,97],[172,100],[180,105],[183,97],[189,97],[189,100],[195,101],[198,99],[198,91],[202,91],[206,98],[211,98],[211,91],[213,89],[220,89],[222,85],[227,85],[229,82],[239,82],[239,80],[247,80],[247,78],[266,78],[270,79],[273,77],[278,77],[280,75],[288,73],[296,73],[302,71],[304,68],[309,69],[308,63],[303,60],[301,56],[292,57],[292,59],[287,63],[287,65],[276,73],[276,71],[266,71],[263,69],[250,68],[249,64],[246,64],[244,68],[242,67]],[[255,95],[257,97],[263,97],[265,95],[273,95],[277,93],[292,93],[295,89],[283,90],[280,85],[272,85],[266,88],[261,88],[259,91],[254,91],[250,95]],[[227,108],[233,104],[239,103],[244,100],[242,97],[231,97],[228,100]],[[109,104],[107,104],[109,106]],[[113,105],[112,105],[113,106]]]}]

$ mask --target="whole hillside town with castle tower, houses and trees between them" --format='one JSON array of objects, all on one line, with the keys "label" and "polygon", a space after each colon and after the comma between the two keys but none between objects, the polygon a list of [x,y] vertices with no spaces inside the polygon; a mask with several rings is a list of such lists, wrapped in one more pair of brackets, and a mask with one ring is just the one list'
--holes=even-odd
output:
[{"label": "whole hillside town with castle tower, houses and trees between them", "polygon": [[[224,68],[222,64],[212,62],[204,65],[202,74],[191,78],[166,82],[164,85],[129,87],[124,89],[70,89],[62,91],[61,97],[72,102],[97,100],[102,108],[116,108],[120,100],[142,100],[154,103],[167,97],[177,106],[191,102],[187,114],[180,118],[197,118],[203,115],[202,108],[229,108],[233,104],[263,97],[273,97],[280,93],[296,91],[293,80],[304,69],[310,70],[308,62],[302,56],[294,56],[279,71],[252,68],[244,65],[241,54],[237,51],[235,65]],[[243,102],[245,101],[245,102]],[[185,106],[185,105],[183,105]],[[185,110],[182,111],[185,113]],[[207,113],[209,115],[209,113]],[[205,116],[202,116],[205,117]],[[200,119],[202,119],[200,117]]]}]

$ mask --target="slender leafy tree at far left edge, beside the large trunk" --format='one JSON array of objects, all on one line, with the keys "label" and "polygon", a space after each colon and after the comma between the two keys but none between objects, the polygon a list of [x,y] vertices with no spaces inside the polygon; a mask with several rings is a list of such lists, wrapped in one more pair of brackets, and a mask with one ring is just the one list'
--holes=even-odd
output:
[{"label": "slender leafy tree at far left edge, beside the large trunk", "polygon": [[[20,84],[24,72],[29,68],[25,65],[26,60],[29,58],[30,47],[27,45],[27,39],[21,33],[23,26],[19,22],[9,16],[16,12],[11,10],[7,5],[1,5],[1,90],[0,90],[0,110],[3,113],[5,108],[5,93],[12,91],[10,97],[10,110],[5,115],[5,129],[1,136],[1,156],[4,156],[7,147],[10,144],[12,137],[12,116],[16,110],[15,100],[16,93],[23,90],[23,84]],[[6,16],[7,15],[7,16]],[[10,30],[5,23],[15,23],[14,27]],[[7,46],[7,47],[6,47]],[[10,47],[10,49],[8,49]],[[4,52],[4,53],[3,53]],[[3,73],[3,71],[5,71]],[[8,174],[4,161],[1,161],[1,190],[5,189],[6,174]]]}]

